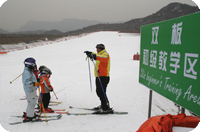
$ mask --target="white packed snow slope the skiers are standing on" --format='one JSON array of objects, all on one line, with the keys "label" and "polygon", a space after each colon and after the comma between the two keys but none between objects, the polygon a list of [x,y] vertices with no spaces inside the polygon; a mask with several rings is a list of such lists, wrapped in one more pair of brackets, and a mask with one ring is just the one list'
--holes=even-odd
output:
[{"label": "white packed snow slope the skiers are standing on", "polygon": [[[90,112],[69,109],[69,106],[92,108],[100,101],[95,92],[94,65],[90,62],[92,92],[89,82],[88,62],[84,51],[96,52],[96,44],[103,43],[111,57],[110,83],[107,95],[111,107],[116,111],[127,111],[127,115],[68,116],[63,114],[58,121],[24,123],[12,115],[22,115],[26,100],[21,77],[10,84],[23,72],[23,61],[34,57],[39,66],[46,65],[52,71],[51,84],[62,104],[51,108],[65,108],[67,111]],[[147,120],[149,89],[139,84],[139,61],[133,55],[140,51],[140,35],[118,32],[97,32],[69,41],[0,55],[0,124],[9,132],[135,132]],[[52,100],[56,101],[53,93]],[[168,99],[153,93],[152,116],[177,114],[178,108]],[[184,129],[186,130],[186,129]],[[184,131],[183,130],[183,131]],[[187,131],[192,129],[187,129]],[[182,131],[182,132],[183,132]]]}]

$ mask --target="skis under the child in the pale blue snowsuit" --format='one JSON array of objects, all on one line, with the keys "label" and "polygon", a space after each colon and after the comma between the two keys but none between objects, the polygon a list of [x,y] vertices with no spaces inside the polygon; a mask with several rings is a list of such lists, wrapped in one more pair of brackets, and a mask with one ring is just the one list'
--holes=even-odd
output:
[{"label": "skis under the child in the pale blue snowsuit", "polygon": [[[23,118],[23,116],[12,116],[12,117],[17,117],[17,118]],[[51,116],[40,116],[38,119],[35,119],[31,122],[23,122],[23,121],[19,121],[19,122],[13,122],[13,123],[9,123],[10,125],[16,125],[16,124],[22,124],[22,123],[34,123],[34,122],[48,122],[48,121],[53,121],[53,120],[59,120],[62,117],[62,114],[59,115],[51,115]],[[47,118],[47,119],[45,119]]]}]

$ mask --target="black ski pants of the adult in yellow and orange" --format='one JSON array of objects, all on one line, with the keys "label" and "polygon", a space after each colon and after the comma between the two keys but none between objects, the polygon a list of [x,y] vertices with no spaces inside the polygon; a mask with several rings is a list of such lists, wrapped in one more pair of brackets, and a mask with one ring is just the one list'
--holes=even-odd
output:
[{"label": "black ski pants of the adult in yellow and orange", "polygon": [[[99,82],[99,78],[101,80],[101,83]],[[110,81],[110,77],[99,77],[99,78],[96,77],[96,93],[101,101],[102,109],[107,110],[108,108],[110,108],[110,106],[109,106],[109,101],[106,95],[106,89]]]}]

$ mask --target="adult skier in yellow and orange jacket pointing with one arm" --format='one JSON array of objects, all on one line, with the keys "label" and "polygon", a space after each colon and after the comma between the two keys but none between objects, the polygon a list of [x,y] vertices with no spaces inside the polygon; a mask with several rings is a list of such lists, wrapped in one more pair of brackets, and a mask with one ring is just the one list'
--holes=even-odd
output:
[{"label": "adult skier in yellow and orange jacket pointing with one arm", "polygon": [[101,101],[101,105],[93,109],[96,110],[96,114],[113,113],[106,94],[107,85],[110,81],[110,56],[103,44],[97,44],[96,49],[97,53],[90,51],[84,52],[89,58],[96,60],[94,69],[96,93]]}]

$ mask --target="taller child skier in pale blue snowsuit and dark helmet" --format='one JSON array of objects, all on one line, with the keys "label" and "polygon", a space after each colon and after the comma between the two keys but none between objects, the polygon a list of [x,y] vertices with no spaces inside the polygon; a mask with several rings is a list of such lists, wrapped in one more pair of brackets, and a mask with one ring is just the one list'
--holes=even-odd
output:
[{"label": "taller child skier in pale blue snowsuit and dark helmet", "polygon": [[24,60],[24,71],[22,73],[22,83],[24,92],[27,98],[27,108],[26,113],[23,116],[24,122],[33,121],[38,117],[35,112],[35,105],[36,105],[36,90],[39,87],[39,83],[33,73],[34,67],[36,66],[36,61],[34,58],[26,58]]}]

